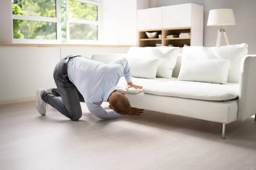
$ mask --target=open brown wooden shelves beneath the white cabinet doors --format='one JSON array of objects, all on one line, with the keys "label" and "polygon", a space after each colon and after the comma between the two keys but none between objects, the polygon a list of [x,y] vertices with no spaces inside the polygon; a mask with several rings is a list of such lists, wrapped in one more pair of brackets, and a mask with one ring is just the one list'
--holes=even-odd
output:
[{"label": "open brown wooden shelves beneath the white cabinet doors", "polygon": [[[162,38],[148,38],[145,33],[147,31],[157,31],[158,34],[162,34]],[[174,47],[181,47],[180,45],[183,44],[191,45],[191,37],[166,38],[167,35],[179,35],[180,33],[191,33],[191,27],[139,30],[139,47],[156,47],[156,44],[163,46],[172,44]]]}]

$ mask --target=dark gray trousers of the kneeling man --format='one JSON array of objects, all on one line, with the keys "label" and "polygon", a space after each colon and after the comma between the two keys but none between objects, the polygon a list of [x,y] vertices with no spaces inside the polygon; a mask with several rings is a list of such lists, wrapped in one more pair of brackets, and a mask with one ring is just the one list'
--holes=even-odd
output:
[{"label": "dark gray trousers of the kneeling man", "polygon": [[77,121],[82,116],[80,102],[84,102],[84,98],[69,78],[64,76],[64,61],[65,59],[61,59],[53,72],[53,78],[57,88],[52,90],[52,94],[44,92],[41,98],[64,116]]}]

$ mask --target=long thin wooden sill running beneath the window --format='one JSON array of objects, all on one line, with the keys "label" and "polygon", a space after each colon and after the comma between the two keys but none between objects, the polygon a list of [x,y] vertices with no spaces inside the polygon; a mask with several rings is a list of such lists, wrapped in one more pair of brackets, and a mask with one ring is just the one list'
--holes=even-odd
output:
[{"label": "long thin wooden sill running beneath the window", "polygon": [[15,44],[0,43],[1,46],[11,47],[133,47],[136,45],[89,45],[89,44]]}]

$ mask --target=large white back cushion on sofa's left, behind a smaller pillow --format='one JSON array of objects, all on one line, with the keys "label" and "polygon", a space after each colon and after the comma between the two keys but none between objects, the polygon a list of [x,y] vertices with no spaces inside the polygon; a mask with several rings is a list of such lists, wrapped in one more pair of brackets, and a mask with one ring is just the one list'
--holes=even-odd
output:
[{"label": "large white back cushion on sofa's left, behind a smaller pillow", "polygon": [[158,58],[157,77],[172,78],[179,54],[178,47],[131,47],[127,57],[131,58]]}]

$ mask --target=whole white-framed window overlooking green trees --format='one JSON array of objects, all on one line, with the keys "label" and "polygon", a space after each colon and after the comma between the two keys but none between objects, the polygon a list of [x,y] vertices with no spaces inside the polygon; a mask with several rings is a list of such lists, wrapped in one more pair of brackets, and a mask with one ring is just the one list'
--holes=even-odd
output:
[{"label": "whole white-framed window overlooking green trees", "polygon": [[88,43],[98,40],[99,2],[12,0],[13,42]]}]

